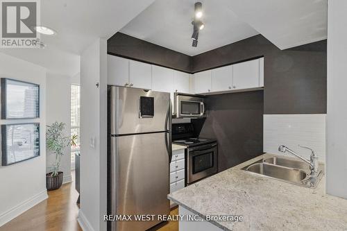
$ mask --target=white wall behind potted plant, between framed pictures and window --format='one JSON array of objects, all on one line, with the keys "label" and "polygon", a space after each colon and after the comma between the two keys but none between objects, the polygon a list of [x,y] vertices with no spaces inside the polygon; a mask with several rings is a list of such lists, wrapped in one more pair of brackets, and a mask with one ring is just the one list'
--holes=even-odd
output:
[{"label": "white wall behind potted plant, between framed pictures and window", "polygon": [[[55,121],[66,124],[65,132],[70,135],[70,104],[71,104],[71,78],[57,74],[46,75],[46,124]],[[51,151],[46,151],[46,172],[51,171],[51,166],[56,157]],[[65,155],[60,162],[60,170],[64,173],[63,183],[71,182],[71,148],[65,148]]]}]

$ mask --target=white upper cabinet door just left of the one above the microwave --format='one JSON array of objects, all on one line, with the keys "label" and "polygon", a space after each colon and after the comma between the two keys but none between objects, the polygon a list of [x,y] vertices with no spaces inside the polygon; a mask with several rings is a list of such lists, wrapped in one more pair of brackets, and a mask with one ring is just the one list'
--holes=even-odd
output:
[{"label": "white upper cabinet door just left of the one above the microwave", "polygon": [[174,92],[174,87],[174,70],[153,65],[153,91]]}]

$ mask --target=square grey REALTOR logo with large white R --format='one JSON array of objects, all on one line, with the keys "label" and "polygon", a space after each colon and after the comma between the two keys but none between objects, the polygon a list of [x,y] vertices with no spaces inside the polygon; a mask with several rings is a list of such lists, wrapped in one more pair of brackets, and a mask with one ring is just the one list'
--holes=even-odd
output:
[{"label": "square grey REALTOR logo with large white R", "polygon": [[1,48],[39,48],[39,2],[1,0]]}]

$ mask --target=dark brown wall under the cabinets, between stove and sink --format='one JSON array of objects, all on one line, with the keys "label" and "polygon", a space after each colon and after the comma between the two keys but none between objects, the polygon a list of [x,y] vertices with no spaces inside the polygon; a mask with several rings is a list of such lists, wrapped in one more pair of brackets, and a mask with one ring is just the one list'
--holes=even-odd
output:
[{"label": "dark brown wall under the cabinets, between stove and sink", "polygon": [[219,171],[262,154],[263,102],[263,91],[208,96],[208,117],[192,119],[200,137],[217,139]]}]

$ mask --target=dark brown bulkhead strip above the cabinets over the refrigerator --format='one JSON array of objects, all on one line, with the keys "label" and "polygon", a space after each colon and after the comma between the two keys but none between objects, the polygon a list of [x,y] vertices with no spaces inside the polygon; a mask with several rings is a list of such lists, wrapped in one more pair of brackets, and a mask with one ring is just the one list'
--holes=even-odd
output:
[{"label": "dark brown bulkhead strip above the cabinets over the refrigerator", "polygon": [[148,62],[178,71],[192,72],[192,58],[151,42],[116,33],[108,40],[108,53],[124,58]]}]

